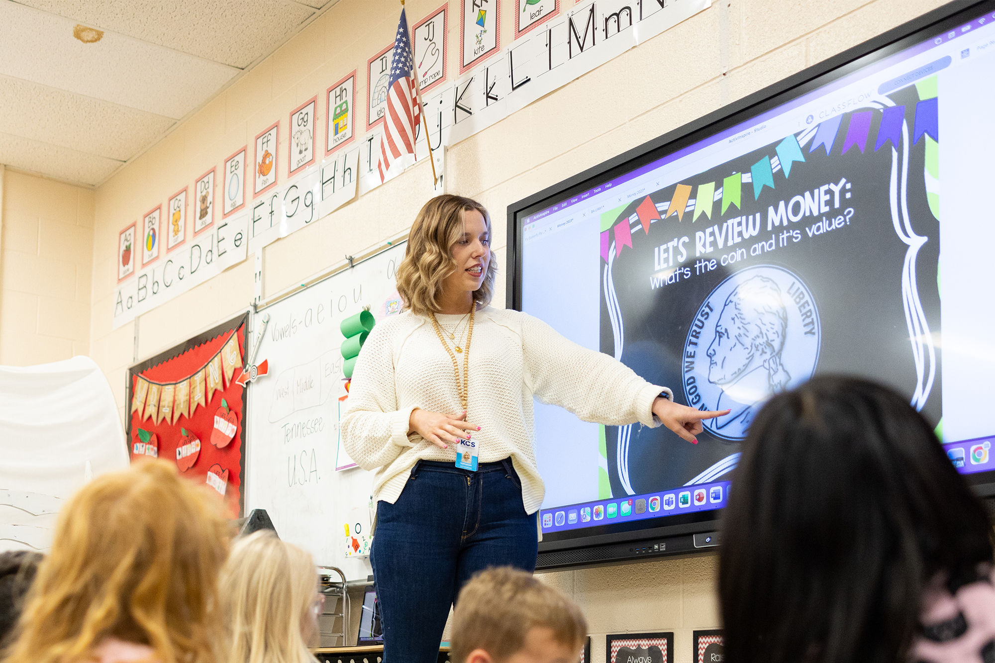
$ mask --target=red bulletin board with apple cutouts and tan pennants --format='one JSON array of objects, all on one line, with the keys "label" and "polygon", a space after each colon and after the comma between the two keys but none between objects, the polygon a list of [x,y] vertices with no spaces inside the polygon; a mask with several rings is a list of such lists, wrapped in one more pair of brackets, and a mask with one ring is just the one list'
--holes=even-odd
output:
[{"label": "red bulletin board with apple cutouts and tan pennants", "polygon": [[223,493],[232,518],[240,517],[244,506],[246,398],[237,380],[248,319],[245,314],[199,334],[127,373],[132,461],[157,456],[176,463],[183,476],[207,484],[219,497]]}]

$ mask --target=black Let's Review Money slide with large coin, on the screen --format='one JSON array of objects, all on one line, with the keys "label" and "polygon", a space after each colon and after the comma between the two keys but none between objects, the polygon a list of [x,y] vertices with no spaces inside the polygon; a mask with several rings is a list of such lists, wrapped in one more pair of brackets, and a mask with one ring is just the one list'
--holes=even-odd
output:
[{"label": "black Let's Review Money slide with large coin, on the screen", "polygon": [[606,427],[613,495],[724,475],[763,402],[815,372],[940,418],[936,108],[933,77],[600,215],[601,350],[732,410],[697,445]]}]

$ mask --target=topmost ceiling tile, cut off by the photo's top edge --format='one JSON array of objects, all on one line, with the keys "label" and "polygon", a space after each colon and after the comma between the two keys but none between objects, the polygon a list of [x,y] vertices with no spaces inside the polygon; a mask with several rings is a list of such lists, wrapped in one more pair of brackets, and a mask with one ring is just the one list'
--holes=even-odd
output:
[{"label": "topmost ceiling tile, cut off by the photo's top edge", "polygon": [[[244,69],[327,0],[19,0],[100,30]],[[309,7],[307,6],[309,5]],[[104,37],[106,39],[106,37]]]}]

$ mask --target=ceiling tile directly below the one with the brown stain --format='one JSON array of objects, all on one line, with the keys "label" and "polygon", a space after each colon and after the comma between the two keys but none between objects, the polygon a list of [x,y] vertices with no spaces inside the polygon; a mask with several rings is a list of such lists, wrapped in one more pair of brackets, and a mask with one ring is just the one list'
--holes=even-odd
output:
[{"label": "ceiling tile directly below the one with the brown stain", "polygon": [[0,128],[23,138],[125,161],[175,123],[171,117],[0,76]]}]

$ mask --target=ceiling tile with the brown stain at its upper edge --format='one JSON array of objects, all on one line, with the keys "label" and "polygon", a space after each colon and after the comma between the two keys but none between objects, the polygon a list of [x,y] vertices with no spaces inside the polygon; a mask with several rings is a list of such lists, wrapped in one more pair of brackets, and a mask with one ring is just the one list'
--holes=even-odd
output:
[{"label": "ceiling tile with the brown stain at its upper edge", "polygon": [[84,44],[74,39],[74,25],[71,19],[0,2],[5,47],[0,74],[179,118],[239,73],[112,32]]}]

